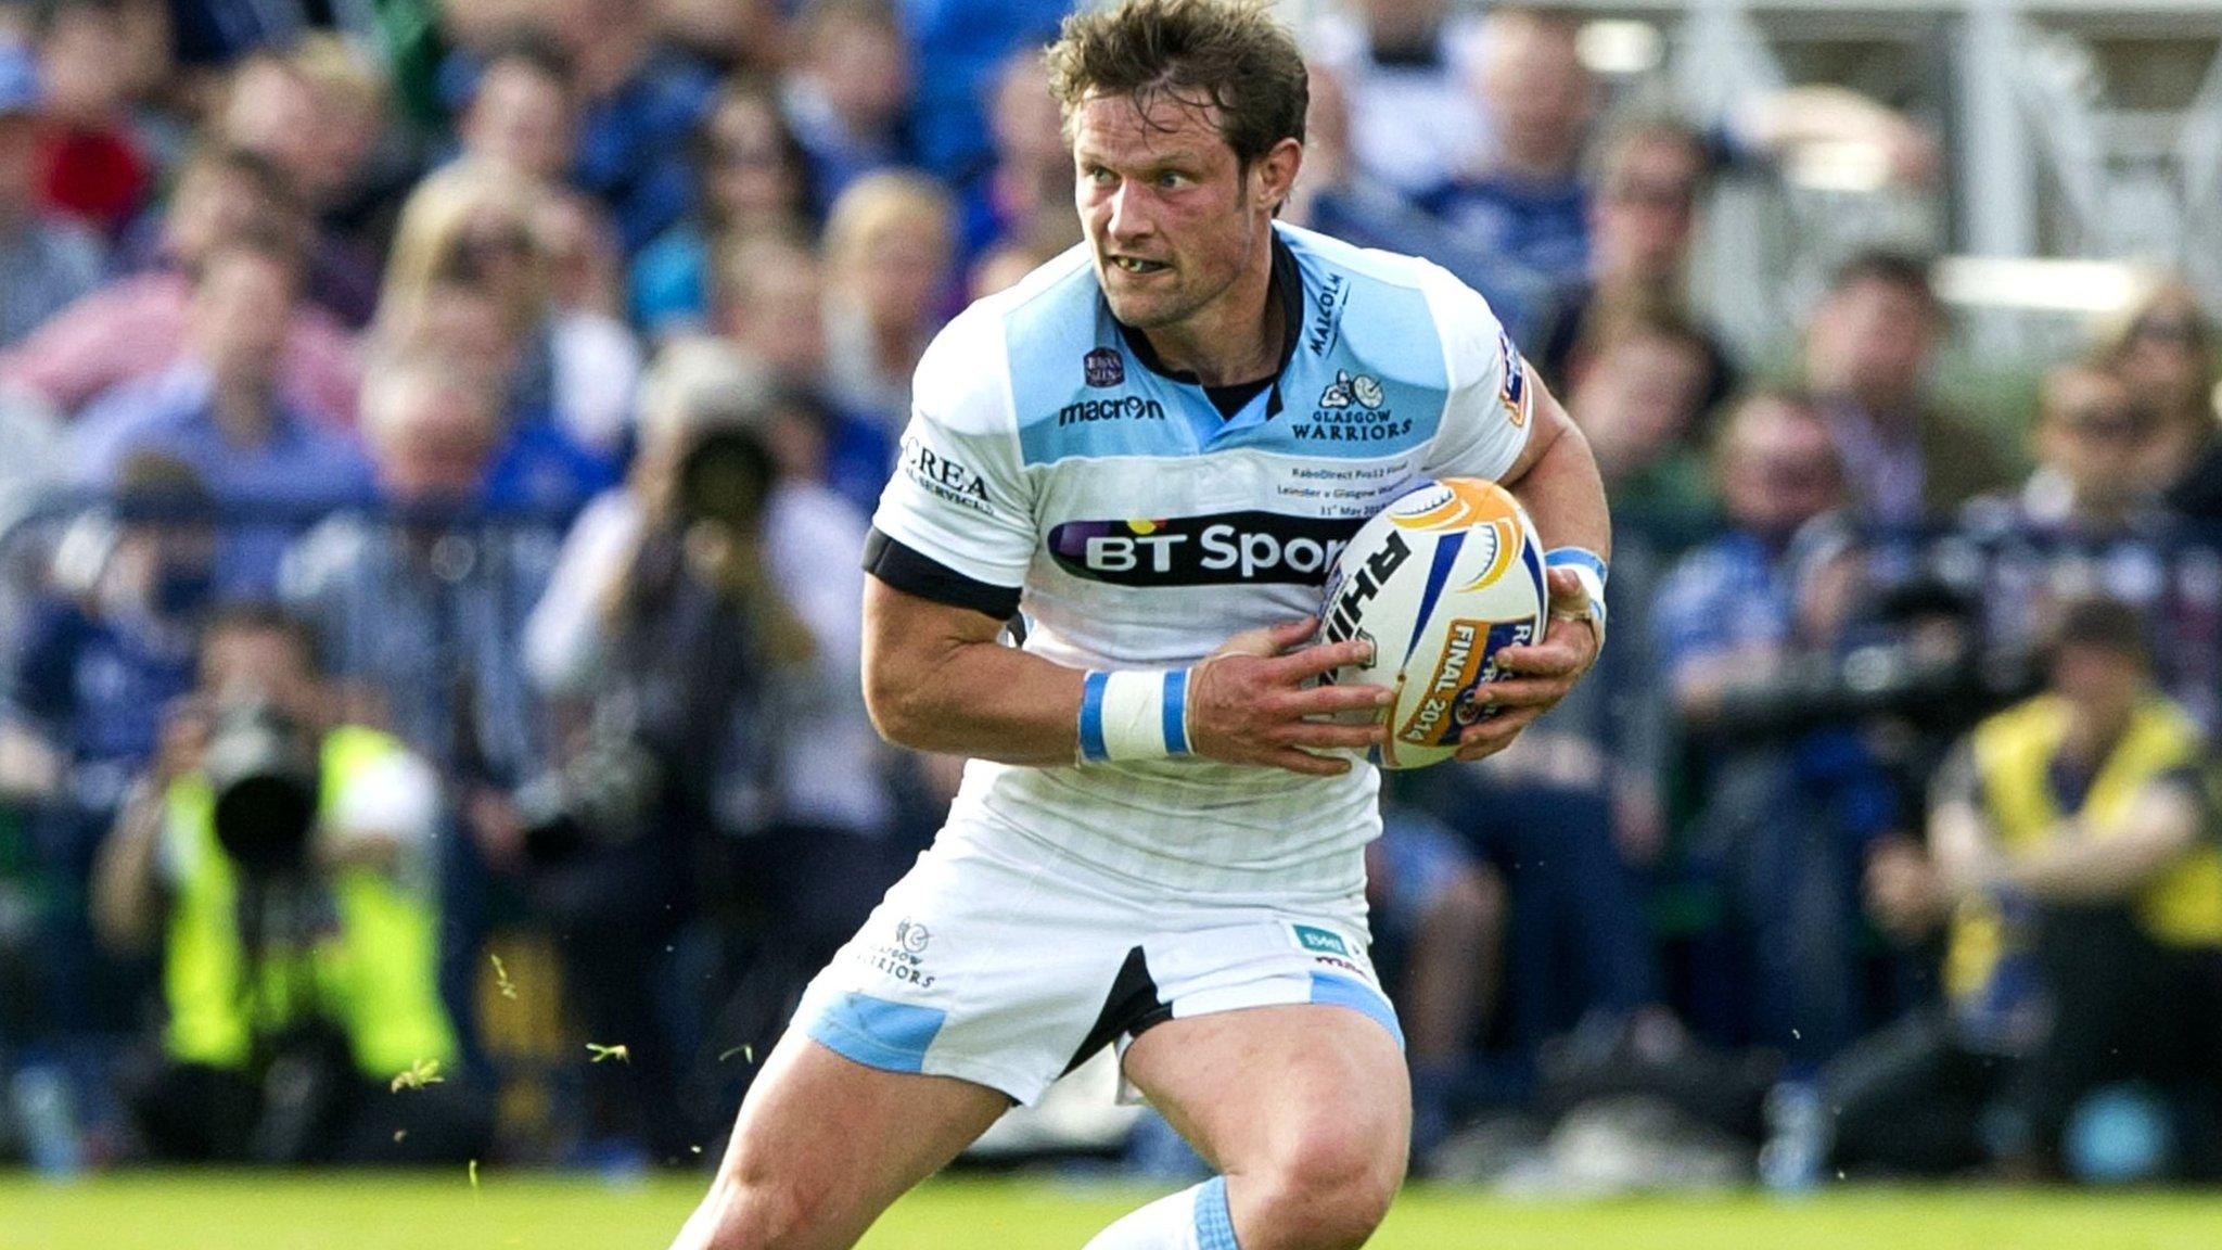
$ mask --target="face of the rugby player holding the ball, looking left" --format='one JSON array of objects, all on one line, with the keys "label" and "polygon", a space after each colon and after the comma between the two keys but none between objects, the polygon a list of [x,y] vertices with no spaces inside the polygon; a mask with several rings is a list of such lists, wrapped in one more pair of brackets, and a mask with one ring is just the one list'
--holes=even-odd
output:
[{"label": "face of the rugby player holding the ball, looking left", "polygon": [[1073,113],[1080,225],[1095,276],[1122,323],[1180,325],[1211,307],[1264,247],[1269,211],[1249,194],[1213,111],[1153,98],[1093,96]]}]

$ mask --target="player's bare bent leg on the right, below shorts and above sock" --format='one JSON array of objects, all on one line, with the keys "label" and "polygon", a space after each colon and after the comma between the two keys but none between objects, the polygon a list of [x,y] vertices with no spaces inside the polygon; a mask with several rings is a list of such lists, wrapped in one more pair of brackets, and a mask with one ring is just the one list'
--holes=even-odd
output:
[{"label": "player's bare bent leg on the right, below shorts and above sock", "polygon": [[1404,1181],[1404,1052],[1364,1012],[1291,1003],[1173,1019],[1133,1039],[1124,1068],[1227,1177],[1238,1232],[1304,1219],[1371,1228]]}]

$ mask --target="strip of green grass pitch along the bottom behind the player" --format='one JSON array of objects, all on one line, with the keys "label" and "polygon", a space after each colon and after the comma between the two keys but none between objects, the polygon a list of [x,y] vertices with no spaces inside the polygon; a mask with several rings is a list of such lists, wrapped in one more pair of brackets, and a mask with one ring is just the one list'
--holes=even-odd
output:
[{"label": "strip of green grass pitch along the bottom behind the player", "polygon": [[[482,1170],[253,1177],[158,1172],[44,1185],[0,1177],[0,1250],[662,1250],[698,1181],[609,1185]],[[1151,1197],[1062,1181],[938,1181],[871,1250],[1078,1250]],[[1840,1190],[1798,1201],[1509,1201],[1413,1188],[1380,1250],[2213,1250],[2222,1194]]]}]

